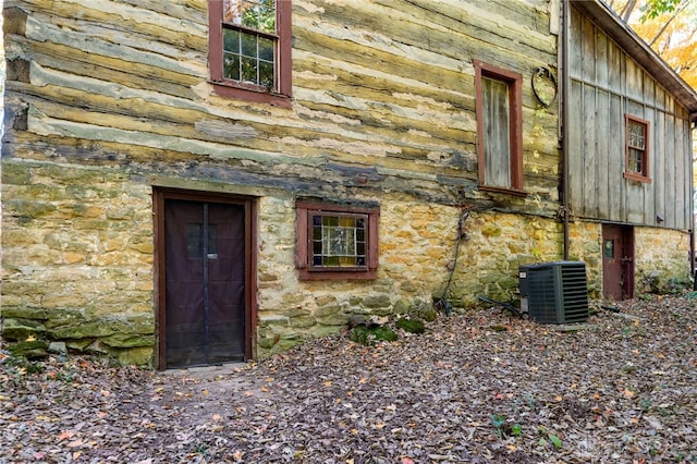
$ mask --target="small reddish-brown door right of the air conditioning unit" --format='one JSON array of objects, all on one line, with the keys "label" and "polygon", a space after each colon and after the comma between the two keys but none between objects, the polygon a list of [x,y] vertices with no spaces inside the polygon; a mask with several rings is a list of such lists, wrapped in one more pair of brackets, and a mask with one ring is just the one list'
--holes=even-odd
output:
[{"label": "small reddish-brown door right of the air conditioning unit", "polygon": [[602,294],[608,300],[634,297],[634,229],[602,225]]}]

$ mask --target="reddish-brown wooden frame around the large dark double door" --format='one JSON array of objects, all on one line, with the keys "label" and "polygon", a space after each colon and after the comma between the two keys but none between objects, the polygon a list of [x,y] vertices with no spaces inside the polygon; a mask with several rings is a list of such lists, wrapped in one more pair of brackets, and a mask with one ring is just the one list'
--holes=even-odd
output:
[{"label": "reddish-brown wooden frame around the large dark double door", "polygon": [[167,369],[167,262],[164,253],[164,202],[216,203],[244,207],[244,358],[255,356],[257,321],[257,203],[255,197],[180,188],[152,190],[152,221],[155,225],[155,367]]}]

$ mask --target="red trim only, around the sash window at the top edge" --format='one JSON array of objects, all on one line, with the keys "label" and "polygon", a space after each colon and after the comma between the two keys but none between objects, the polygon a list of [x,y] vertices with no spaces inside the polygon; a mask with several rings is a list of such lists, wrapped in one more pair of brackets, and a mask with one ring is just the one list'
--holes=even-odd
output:
[{"label": "red trim only, around the sash window at the top edge", "polygon": [[278,90],[270,93],[257,85],[223,78],[222,73],[222,0],[208,0],[208,72],[213,91],[221,97],[290,108],[292,91],[291,0],[277,2],[277,76]]}]

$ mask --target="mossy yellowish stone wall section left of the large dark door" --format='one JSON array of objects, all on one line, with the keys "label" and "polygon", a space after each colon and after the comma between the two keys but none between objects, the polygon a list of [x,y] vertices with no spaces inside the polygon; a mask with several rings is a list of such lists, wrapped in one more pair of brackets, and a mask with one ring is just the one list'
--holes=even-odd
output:
[{"label": "mossy yellowish stone wall section left of the large dark door", "polygon": [[149,364],[151,190],[119,171],[2,166],[3,337]]}]

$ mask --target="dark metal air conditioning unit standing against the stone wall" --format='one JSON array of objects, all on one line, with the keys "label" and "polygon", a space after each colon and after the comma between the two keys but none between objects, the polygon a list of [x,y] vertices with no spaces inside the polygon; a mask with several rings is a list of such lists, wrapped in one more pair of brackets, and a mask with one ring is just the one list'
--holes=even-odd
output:
[{"label": "dark metal air conditioning unit standing against the stone wall", "polygon": [[588,319],[586,264],[553,261],[518,268],[521,308],[539,323],[580,323]]}]

